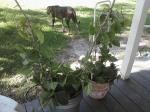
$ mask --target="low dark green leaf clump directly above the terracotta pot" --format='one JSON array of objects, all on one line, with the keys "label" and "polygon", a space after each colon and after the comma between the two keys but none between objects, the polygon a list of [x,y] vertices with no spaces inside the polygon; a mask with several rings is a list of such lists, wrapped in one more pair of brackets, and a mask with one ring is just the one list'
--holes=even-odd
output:
[{"label": "low dark green leaf clump directly above the terracotta pot", "polygon": [[98,83],[111,83],[118,77],[118,69],[114,63],[106,66],[105,64],[101,63],[101,61],[96,61],[95,63],[87,62],[86,66],[84,67],[86,67],[86,70],[89,70],[86,72],[86,75],[88,76],[86,78]]}]

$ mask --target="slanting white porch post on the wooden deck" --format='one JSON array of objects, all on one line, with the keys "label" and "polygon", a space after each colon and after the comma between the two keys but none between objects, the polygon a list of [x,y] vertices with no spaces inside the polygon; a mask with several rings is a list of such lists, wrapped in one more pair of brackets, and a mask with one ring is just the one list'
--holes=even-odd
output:
[{"label": "slanting white porch post on the wooden deck", "polygon": [[127,79],[130,75],[149,7],[150,0],[136,1],[125,57],[121,66],[121,77],[123,79]]}]

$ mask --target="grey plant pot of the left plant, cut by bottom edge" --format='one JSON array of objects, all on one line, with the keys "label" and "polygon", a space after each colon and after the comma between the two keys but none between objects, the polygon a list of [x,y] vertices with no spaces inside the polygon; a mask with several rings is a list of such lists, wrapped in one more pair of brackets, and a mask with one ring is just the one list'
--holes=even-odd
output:
[{"label": "grey plant pot of the left plant, cut by bottom edge", "polygon": [[79,112],[80,110],[80,101],[82,99],[82,92],[77,97],[69,100],[67,105],[56,106],[52,112]]}]

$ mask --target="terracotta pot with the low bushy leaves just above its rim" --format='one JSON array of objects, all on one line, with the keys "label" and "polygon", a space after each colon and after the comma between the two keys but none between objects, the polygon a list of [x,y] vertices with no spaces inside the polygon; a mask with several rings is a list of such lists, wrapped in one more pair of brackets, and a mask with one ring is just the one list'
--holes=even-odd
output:
[{"label": "terracotta pot with the low bushy leaves just above its rim", "polygon": [[87,75],[84,83],[86,94],[94,99],[104,98],[112,82],[119,77],[115,64],[112,62],[106,66],[101,61],[96,61],[87,62],[84,67],[87,70],[84,72]]}]

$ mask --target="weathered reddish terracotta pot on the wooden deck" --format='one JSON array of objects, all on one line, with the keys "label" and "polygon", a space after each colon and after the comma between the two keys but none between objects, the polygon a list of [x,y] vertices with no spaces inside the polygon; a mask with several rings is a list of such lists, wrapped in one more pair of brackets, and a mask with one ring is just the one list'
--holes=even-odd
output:
[{"label": "weathered reddish terracotta pot on the wooden deck", "polygon": [[94,81],[91,82],[92,82],[92,92],[89,96],[94,99],[104,98],[110,89],[109,83],[100,84]]}]

